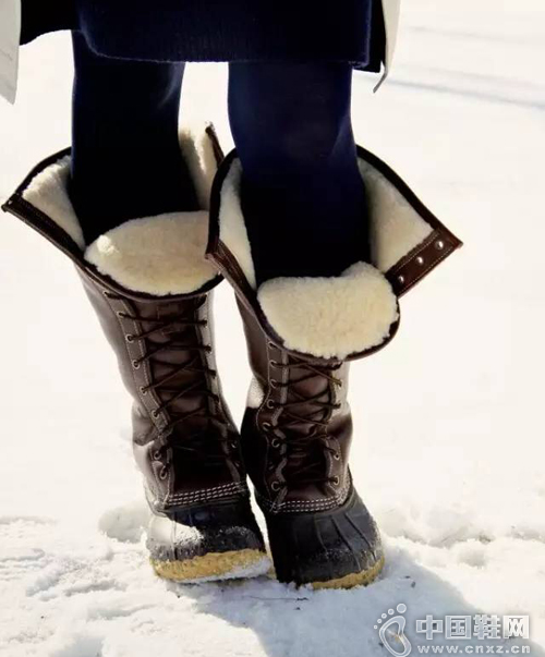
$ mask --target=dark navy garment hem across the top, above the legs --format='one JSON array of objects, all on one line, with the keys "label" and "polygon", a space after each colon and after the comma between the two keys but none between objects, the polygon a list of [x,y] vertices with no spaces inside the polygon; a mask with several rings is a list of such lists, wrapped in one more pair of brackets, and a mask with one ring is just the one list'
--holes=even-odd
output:
[{"label": "dark navy garment hem across the top, above the legs", "polygon": [[97,52],[155,61],[344,61],[379,70],[382,0],[22,0],[22,42],[80,29]]}]

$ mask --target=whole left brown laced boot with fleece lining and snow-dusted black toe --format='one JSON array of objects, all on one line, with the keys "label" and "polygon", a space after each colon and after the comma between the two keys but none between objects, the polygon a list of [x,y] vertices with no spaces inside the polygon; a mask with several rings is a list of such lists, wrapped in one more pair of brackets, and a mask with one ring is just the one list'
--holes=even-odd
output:
[{"label": "whole left brown laced boot with fleece lining and snow-dusted black toe", "polygon": [[66,192],[70,151],[26,178],[4,209],[76,265],[134,399],[133,446],[152,509],[156,572],[204,581],[270,565],[250,507],[238,431],[213,350],[205,260],[208,196],[221,151],[211,129],[182,139],[203,211],[129,221],[87,246]]}]

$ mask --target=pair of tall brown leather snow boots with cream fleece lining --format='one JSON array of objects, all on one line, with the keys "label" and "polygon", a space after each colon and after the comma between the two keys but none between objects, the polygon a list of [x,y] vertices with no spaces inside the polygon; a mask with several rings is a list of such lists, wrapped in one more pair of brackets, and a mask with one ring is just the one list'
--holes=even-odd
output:
[{"label": "pair of tall brown leather snow boots with cream fleece lining", "polygon": [[[134,219],[85,244],[68,194],[69,149],[38,165],[4,205],[74,261],[117,354],[134,400],[152,564],[184,582],[269,572],[250,476],[279,581],[368,584],[384,552],[349,469],[349,362],[393,338],[399,296],[461,243],[360,148],[373,264],[257,287],[237,153],[223,158],[211,126],[183,134],[181,147],[201,211]],[[237,293],[254,375],[240,433],[214,354],[213,290],[222,278]]]}]

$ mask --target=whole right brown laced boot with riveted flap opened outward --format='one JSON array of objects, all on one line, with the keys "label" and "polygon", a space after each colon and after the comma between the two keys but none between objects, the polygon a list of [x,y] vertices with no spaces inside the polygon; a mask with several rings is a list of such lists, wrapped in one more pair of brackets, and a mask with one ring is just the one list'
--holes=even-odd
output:
[{"label": "whole right brown laced boot with riveted flap opened outward", "polygon": [[315,587],[368,584],[384,564],[349,469],[348,361],[393,338],[398,297],[461,245],[389,167],[363,148],[359,157],[373,265],[354,263],[335,278],[279,278],[256,289],[234,151],[213,190],[208,257],[237,292],[254,373],[244,460],[278,579]]}]

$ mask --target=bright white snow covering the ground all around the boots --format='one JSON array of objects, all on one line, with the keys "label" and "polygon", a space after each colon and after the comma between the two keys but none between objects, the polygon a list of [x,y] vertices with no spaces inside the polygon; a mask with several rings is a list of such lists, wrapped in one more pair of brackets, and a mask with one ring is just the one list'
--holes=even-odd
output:
[{"label": "bright white snow covering the ground all around the boots", "polygon": [[[356,75],[359,141],[465,241],[353,368],[353,470],[388,558],[367,589],[153,576],[113,356],[68,260],[0,217],[2,657],[387,656],[374,626],[400,603],[414,653],[444,643],[414,632],[426,615],[519,613],[545,655],[544,19],[542,0],[405,0],[391,82],[373,97]],[[186,93],[228,145],[225,69],[192,68]],[[0,106],[0,199],[69,143],[69,104],[68,39],[25,49],[19,104]],[[227,285],[217,302],[240,417]]]}]

